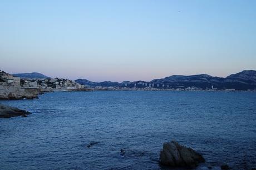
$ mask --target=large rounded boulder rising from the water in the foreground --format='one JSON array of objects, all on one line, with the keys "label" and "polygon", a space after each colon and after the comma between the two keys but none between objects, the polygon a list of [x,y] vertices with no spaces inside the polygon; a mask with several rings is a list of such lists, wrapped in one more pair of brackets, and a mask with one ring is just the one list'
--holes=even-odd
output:
[{"label": "large rounded boulder rising from the water in the foreground", "polygon": [[160,163],[171,167],[196,167],[199,163],[205,162],[203,156],[191,148],[171,141],[164,143],[160,152]]}]

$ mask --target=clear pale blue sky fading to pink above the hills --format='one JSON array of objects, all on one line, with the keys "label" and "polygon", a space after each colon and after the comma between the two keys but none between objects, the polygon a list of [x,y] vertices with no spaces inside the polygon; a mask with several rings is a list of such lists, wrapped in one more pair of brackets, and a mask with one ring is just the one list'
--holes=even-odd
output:
[{"label": "clear pale blue sky fading to pink above the hills", "polygon": [[256,69],[256,1],[0,1],[0,69],[90,81]]}]

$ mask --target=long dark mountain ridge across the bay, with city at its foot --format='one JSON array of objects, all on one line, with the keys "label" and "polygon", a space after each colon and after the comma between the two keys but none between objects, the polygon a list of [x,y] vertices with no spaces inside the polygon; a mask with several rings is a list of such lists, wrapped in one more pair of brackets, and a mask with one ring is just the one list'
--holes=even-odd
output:
[{"label": "long dark mountain ridge across the bay, with city at its foot", "polygon": [[146,81],[135,81],[129,82],[125,81],[122,83],[118,82],[91,82],[87,79],[77,79],[77,83],[83,84],[85,86],[95,87],[154,87],[154,88],[188,88],[188,87],[198,87],[202,89],[206,88],[234,88],[237,90],[247,90],[256,89],[256,71],[248,70],[242,71],[236,74],[231,74],[230,76],[223,77],[213,77],[208,74],[198,74],[192,76],[182,76],[173,75],[160,79],[153,79],[150,82]]}]

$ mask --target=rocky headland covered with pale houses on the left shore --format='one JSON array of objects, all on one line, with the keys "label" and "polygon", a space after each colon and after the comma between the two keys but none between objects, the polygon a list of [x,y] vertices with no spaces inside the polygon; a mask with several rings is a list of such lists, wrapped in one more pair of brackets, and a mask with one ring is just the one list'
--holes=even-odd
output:
[{"label": "rocky headland covered with pale houses on the left shore", "polygon": [[38,94],[55,91],[91,91],[63,78],[21,78],[0,71],[0,99],[38,98]]}]

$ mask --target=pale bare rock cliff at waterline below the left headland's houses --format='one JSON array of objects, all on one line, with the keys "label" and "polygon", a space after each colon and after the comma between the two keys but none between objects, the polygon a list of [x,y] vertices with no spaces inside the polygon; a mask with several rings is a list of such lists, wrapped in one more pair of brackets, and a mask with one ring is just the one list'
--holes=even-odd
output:
[{"label": "pale bare rock cliff at waterline below the left headland's houses", "polygon": [[16,86],[0,86],[0,99],[22,99],[22,98],[38,98],[40,89],[36,88],[20,88]]}]

